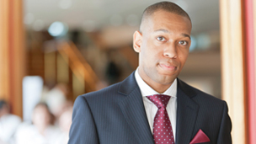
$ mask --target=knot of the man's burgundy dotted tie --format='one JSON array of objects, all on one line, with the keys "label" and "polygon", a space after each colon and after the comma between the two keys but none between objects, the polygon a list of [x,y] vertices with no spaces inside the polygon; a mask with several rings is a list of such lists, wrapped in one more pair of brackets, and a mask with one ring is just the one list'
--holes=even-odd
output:
[{"label": "knot of the man's burgundy dotted tie", "polygon": [[155,94],[151,96],[147,96],[147,99],[152,101],[153,104],[157,106],[158,109],[160,108],[166,108],[168,101],[171,97],[164,94]]}]

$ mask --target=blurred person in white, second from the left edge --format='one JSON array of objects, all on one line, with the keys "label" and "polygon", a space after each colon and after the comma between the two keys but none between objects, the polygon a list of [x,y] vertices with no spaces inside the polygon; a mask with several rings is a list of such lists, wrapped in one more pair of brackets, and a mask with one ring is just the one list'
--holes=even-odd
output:
[{"label": "blurred person in white, second from the left edge", "polygon": [[32,125],[24,123],[16,133],[16,144],[56,144],[61,130],[53,125],[54,117],[47,104],[36,104],[32,115]]}]

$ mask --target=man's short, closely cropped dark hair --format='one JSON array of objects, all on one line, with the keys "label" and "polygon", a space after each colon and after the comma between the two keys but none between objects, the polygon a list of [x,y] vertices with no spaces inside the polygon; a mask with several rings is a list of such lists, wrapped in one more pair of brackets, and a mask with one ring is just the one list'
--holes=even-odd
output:
[{"label": "man's short, closely cropped dark hair", "polygon": [[[189,21],[191,22],[191,19],[189,18],[189,14],[186,13],[184,11],[184,9],[180,8],[179,5],[177,5],[176,3],[159,2],[159,3],[155,3],[155,4],[152,4],[152,5],[148,6],[144,10],[144,12],[142,13],[141,24],[142,24],[144,19],[151,16],[153,13],[155,13],[158,10],[164,10],[164,11],[167,11],[169,13],[175,13],[175,14],[178,14],[180,16],[184,16],[184,17],[188,18]],[[141,25],[140,25],[140,29],[141,29]]]}]

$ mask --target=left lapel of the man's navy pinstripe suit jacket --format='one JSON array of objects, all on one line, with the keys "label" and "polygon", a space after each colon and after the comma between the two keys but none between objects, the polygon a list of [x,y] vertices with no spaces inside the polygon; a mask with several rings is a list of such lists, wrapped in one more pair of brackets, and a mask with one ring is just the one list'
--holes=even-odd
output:
[{"label": "left lapel of the man's navy pinstripe suit jacket", "polygon": [[119,103],[120,109],[139,143],[154,144],[141,91],[137,86],[134,72],[121,83],[119,93],[126,95],[125,99]]}]

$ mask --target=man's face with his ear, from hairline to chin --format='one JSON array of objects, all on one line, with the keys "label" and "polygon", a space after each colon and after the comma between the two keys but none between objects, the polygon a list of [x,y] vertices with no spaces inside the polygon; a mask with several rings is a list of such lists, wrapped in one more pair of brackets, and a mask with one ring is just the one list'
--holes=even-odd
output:
[{"label": "man's face with his ear, from hairline to chin", "polygon": [[139,74],[157,92],[178,77],[189,55],[191,23],[188,18],[158,10],[134,34]]}]

